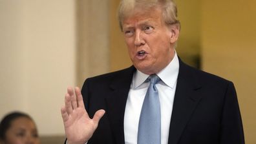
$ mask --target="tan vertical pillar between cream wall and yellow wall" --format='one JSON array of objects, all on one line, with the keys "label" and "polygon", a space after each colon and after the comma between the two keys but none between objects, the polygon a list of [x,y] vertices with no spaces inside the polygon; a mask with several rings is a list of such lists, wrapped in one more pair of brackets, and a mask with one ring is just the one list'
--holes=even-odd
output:
[{"label": "tan vertical pillar between cream wall and yellow wall", "polygon": [[109,72],[109,1],[76,1],[78,86]]}]

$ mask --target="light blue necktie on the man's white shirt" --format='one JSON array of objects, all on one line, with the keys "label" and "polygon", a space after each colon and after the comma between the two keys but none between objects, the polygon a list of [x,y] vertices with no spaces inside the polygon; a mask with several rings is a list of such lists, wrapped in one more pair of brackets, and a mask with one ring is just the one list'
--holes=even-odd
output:
[{"label": "light blue necktie on the man's white shirt", "polygon": [[156,83],[160,78],[156,74],[147,78],[150,81],[140,112],[138,144],[161,143],[161,112]]}]

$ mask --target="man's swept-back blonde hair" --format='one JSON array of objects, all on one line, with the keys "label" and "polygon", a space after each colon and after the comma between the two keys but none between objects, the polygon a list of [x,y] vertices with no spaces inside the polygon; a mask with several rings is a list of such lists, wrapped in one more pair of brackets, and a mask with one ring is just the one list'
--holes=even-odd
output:
[{"label": "man's swept-back blonde hair", "polygon": [[180,22],[177,19],[176,4],[173,0],[121,0],[118,9],[118,20],[121,30],[123,29],[123,20],[128,17],[135,8],[150,10],[156,6],[162,8],[162,18],[166,25],[178,24],[180,27]]}]

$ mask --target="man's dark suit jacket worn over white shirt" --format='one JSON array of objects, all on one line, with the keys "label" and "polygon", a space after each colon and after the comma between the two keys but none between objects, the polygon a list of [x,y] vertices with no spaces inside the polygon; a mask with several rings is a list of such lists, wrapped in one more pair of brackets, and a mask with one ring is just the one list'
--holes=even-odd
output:
[{"label": "man's dark suit jacket worn over white shirt", "polygon": [[[136,69],[86,79],[81,90],[89,116],[103,108],[89,144],[124,144],[125,104]],[[169,144],[242,144],[244,134],[233,83],[180,61]]]}]

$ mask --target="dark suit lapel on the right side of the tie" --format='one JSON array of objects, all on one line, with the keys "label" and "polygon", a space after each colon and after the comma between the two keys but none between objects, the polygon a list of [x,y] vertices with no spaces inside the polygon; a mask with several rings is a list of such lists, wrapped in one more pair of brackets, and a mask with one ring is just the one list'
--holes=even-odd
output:
[{"label": "dark suit lapel on the right side of the tie", "polygon": [[168,144],[178,143],[191,114],[201,98],[200,94],[198,94],[200,85],[198,85],[195,74],[193,74],[195,70],[182,63],[180,59],[179,61],[180,70],[173,103]]}]

